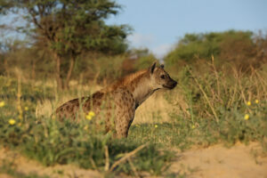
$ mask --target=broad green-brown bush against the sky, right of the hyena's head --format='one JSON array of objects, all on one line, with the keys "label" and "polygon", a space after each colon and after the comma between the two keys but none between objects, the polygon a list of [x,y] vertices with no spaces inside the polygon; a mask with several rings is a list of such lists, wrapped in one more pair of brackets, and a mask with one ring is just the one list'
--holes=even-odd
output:
[{"label": "broad green-brown bush against the sky, right of the hyena's head", "polygon": [[[247,69],[249,65],[258,66],[263,58],[256,55],[261,49],[253,35],[250,31],[234,30],[187,34],[178,42],[174,51],[166,55],[166,65],[178,67],[182,63],[194,64],[199,59],[210,61],[213,55],[217,64],[227,61],[238,69]],[[263,36],[260,38],[264,39]],[[258,59],[255,61],[255,58]]]}]

